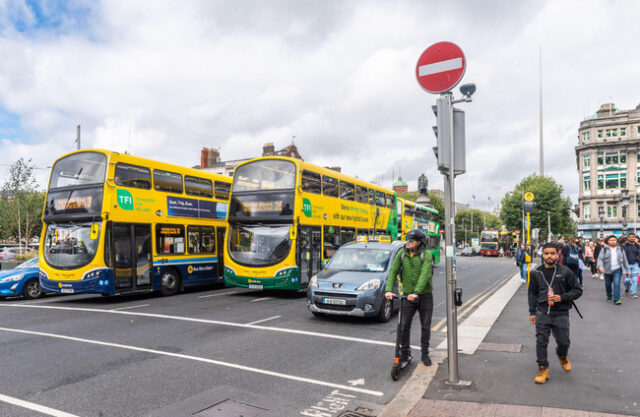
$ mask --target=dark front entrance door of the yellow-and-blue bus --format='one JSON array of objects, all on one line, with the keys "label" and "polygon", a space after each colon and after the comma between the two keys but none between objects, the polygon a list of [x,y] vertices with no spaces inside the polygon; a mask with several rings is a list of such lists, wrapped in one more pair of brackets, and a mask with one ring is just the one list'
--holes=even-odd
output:
[{"label": "dark front entrance door of the yellow-and-blue bus", "polygon": [[111,233],[116,292],[151,288],[151,225],[114,223]]}]

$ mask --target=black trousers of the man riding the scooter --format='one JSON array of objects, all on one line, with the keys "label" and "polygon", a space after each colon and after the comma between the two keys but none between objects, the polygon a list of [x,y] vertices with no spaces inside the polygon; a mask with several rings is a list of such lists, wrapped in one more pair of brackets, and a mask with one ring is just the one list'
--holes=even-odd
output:
[{"label": "black trousers of the man riding the scooter", "polygon": [[431,316],[433,315],[433,294],[419,295],[415,301],[405,300],[400,322],[400,357],[407,358],[411,353],[411,322],[416,311],[420,315],[422,337],[420,346],[422,353],[429,353],[429,338],[431,337]]}]

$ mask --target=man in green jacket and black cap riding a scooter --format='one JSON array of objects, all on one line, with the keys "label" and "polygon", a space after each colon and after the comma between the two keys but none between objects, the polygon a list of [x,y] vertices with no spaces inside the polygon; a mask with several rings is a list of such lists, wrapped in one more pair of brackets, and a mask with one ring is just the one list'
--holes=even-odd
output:
[{"label": "man in green jacket and black cap riding a scooter", "polygon": [[[407,302],[402,310],[400,323],[400,366],[406,367],[411,362],[411,321],[416,313],[420,313],[422,337],[422,363],[431,366],[429,358],[429,338],[431,336],[431,316],[433,314],[433,281],[431,252],[427,251],[426,236],[420,230],[407,232],[407,243],[398,251],[389,269],[387,292],[385,298],[393,298],[393,285],[401,273],[402,288],[407,294]],[[404,254],[404,255],[403,255]],[[402,271],[402,272],[400,272]]]}]

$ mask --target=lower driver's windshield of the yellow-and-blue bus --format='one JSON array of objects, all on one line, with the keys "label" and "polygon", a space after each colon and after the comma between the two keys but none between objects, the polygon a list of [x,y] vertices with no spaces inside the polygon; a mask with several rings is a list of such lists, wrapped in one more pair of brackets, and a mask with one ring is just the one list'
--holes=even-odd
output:
[{"label": "lower driver's windshield of the yellow-and-blue bus", "polygon": [[99,236],[100,223],[52,223],[47,226],[44,258],[54,268],[80,268],[95,256]]}]

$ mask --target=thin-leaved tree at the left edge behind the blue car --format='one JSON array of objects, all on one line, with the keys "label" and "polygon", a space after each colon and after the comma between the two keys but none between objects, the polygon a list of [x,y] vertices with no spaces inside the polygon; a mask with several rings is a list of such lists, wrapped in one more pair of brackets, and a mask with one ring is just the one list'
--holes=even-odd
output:
[{"label": "thin-leaved tree at the left edge behind the blue car", "polygon": [[37,190],[34,169],[31,159],[18,159],[11,164],[9,178],[2,187],[2,233],[7,237],[17,237],[20,246],[25,240],[28,243],[42,228],[44,194]]}]

